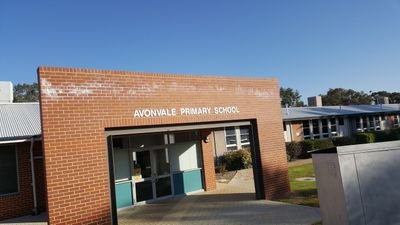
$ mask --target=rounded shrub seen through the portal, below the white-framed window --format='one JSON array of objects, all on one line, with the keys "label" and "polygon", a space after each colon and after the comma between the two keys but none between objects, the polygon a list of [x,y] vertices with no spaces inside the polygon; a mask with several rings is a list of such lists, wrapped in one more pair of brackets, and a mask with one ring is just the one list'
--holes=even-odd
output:
[{"label": "rounded shrub seen through the portal, below the white-framed window", "polygon": [[237,150],[226,152],[222,157],[222,163],[226,165],[226,170],[241,170],[252,166],[251,153],[249,150]]}]

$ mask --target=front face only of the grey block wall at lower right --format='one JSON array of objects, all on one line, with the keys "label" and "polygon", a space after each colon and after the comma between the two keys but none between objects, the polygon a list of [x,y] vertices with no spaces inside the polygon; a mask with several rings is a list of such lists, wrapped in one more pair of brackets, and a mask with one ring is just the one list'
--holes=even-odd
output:
[{"label": "front face only of the grey block wall at lower right", "polygon": [[349,224],[400,224],[400,141],[342,151],[339,160]]}]

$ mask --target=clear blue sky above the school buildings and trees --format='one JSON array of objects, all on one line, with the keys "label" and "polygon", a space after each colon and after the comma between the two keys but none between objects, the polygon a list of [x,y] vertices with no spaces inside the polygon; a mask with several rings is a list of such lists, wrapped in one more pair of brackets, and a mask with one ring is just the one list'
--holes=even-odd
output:
[{"label": "clear blue sky above the school buildings and trees", "polygon": [[400,91],[400,0],[0,1],[0,80],[39,65]]}]

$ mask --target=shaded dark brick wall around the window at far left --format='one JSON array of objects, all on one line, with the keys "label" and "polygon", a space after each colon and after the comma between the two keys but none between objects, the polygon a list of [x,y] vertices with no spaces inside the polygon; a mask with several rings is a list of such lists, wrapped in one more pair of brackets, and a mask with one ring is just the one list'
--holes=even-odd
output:
[{"label": "shaded dark brick wall around the window at far left", "polygon": [[[18,176],[20,191],[16,194],[0,196],[0,220],[18,217],[32,213],[33,209],[33,195],[32,195],[32,176],[30,164],[30,142],[18,143],[17,146],[17,159],[18,159]],[[35,142],[34,155],[41,154],[40,142]],[[36,160],[37,161],[41,160]],[[41,165],[35,165],[36,175],[41,176]],[[36,181],[37,187],[44,190],[40,179]],[[42,210],[45,209],[44,195],[39,195],[38,202]]]}]

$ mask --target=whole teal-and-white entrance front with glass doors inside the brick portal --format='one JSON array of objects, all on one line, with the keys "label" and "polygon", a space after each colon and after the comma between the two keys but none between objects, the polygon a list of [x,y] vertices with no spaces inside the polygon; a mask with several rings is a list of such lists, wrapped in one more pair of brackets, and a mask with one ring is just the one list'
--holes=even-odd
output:
[{"label": "whole teal-and-white entrance front with glass doors inside the brick portal", "polygon": [[116,208],[203,190],[197,131],[113,136]]}]

